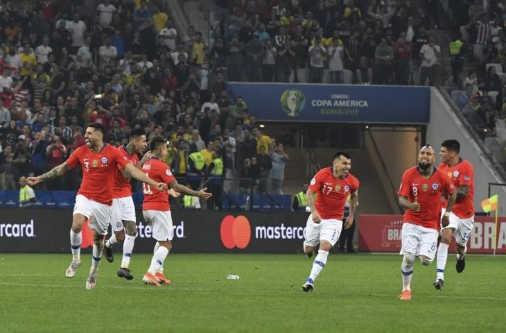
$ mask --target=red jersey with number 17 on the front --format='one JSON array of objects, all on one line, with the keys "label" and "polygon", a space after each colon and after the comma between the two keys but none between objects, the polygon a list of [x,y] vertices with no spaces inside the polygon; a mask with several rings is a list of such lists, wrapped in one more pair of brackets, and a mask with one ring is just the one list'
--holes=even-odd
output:
[{"label": "red jersey with number 17 on the front", "polygon": [[351,173],[339,179],[334,177],[331,167],[318,171],[311,180],[309,189],[317,194],[315,208],[322,219],[342,221],[346,199],[357,192],[359,184],[358,179]]}]

